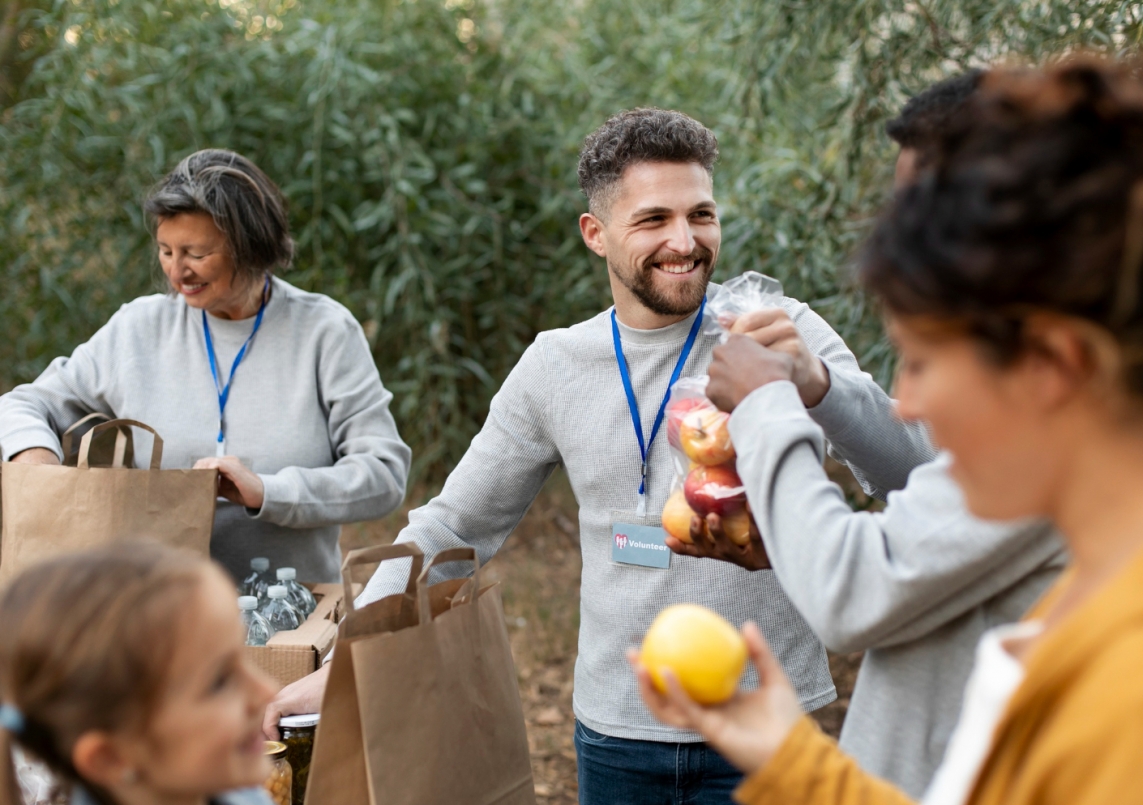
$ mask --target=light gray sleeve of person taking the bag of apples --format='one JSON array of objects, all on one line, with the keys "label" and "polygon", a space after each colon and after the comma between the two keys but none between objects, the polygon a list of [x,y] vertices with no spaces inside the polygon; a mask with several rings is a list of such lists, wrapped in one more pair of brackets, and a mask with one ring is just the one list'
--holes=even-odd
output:
[{"label": "light gray sleeve of person taking the bag of apples", "polygon": [[914,470],[885,512],[854,512],[790,382],[748,396],[730,435],[778,581],[834,651],[917,639],[1061,555],[1046,524],[972,517],[945,456]]}]

